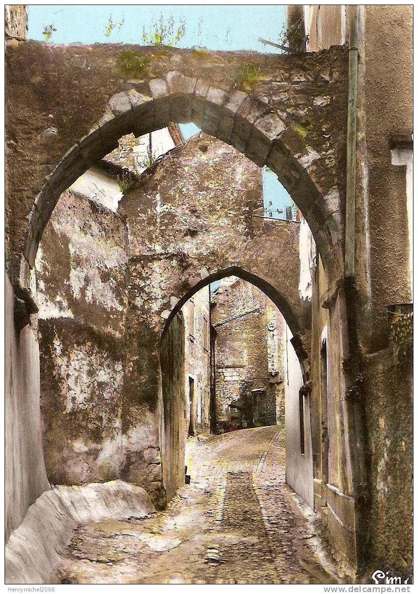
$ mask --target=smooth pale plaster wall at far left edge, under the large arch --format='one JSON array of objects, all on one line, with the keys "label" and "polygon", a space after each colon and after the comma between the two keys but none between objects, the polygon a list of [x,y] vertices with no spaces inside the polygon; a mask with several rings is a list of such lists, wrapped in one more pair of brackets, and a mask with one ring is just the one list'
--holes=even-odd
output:
[{"label": "smooth pale plaster wall at far left edge, under the large arch", "polygon": [[30,326],[14,327],[13,288],[6,276],[5,492],[6,539],[28,507],[50,489],[43,456],[39,407],[39,347]]}]

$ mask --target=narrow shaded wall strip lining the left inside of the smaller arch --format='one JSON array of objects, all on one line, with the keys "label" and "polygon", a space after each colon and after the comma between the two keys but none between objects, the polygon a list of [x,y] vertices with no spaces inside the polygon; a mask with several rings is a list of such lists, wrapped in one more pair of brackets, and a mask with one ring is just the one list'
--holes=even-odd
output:
[{"label": "narrow shaded wall strip lining the left inside of the smaller arch", "polygon": [[[163,425],[161,429],[160,457],[157,448],[145,450],[145,459],[151,465],[151,476],[159,488],[161,481],[169,501],[177,489],[184,485],[184,449],[186,445],[186,391],[184,386],[184,318],[178,312],[161,341],[159,356],[162,376]],[[161,460],[162,458],[162,460]]]}]

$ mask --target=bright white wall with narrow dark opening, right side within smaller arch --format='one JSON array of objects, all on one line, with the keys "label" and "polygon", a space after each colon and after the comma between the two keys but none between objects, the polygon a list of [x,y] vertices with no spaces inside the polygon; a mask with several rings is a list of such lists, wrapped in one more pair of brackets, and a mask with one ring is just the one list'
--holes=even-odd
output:
[{"label": "bright white wall with narrow dark opening, right side within smaller arch", "polygon": [[314,508],[314,472],[312,467],[309,396],[305,399],[305,453],[301,454],[299,429],[299,388],[303,385],[301,366],[291,345],[292,333],[286,326],[285,340],[285,425],[286,482],[293,491]]}]

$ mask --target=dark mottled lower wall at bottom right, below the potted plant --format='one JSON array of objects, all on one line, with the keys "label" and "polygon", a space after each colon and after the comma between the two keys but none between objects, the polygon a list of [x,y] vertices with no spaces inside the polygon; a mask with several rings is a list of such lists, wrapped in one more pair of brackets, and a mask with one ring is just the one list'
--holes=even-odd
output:
[{"label": "dark mottled lower wall at bottom right, below the potted plant", "polygon": [[365,358],[372,488],[368,563],[407,578],[413,552],[412,365],[396,350]]}]

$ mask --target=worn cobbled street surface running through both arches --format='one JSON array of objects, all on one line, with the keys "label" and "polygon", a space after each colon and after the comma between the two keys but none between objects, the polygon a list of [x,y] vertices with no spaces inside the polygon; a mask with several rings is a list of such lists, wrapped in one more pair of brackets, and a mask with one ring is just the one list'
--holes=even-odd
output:
[{"label": "worn cobbled street surface running through both arches", "polygon": [[339,583],[285,484],[277,426],[189,440],[192,476],[146,519],[76,530],[61,583]]}]

